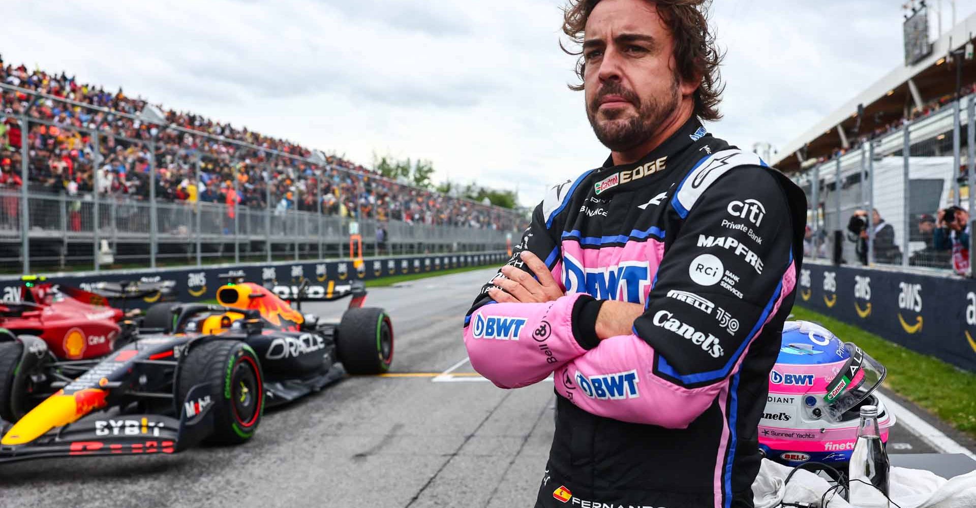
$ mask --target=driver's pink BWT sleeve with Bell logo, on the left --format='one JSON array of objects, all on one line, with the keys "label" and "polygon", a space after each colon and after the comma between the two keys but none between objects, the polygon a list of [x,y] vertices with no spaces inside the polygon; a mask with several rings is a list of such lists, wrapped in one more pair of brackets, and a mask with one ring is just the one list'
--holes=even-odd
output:
[{"label": "driver's pink BWT sleeve with Bell logo, on the left", "polygon": [[573,304],[582,294],[478,307],[465,326],[471,367],[499,387],[518,388],[542,381],[586,353],[572,325]]}]

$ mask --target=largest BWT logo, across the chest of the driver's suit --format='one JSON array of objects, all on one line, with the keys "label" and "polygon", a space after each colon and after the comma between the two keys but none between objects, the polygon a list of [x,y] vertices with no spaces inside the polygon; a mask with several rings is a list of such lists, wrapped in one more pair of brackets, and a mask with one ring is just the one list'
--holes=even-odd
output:
[{"label": "largest BWT logo, across the chest of the driver's suit", "polygon": [[562,258],[562,284],[566,293],[589,293],[601,300],[643,303],[650,284],[647,261],[624,261],[602,268],[583,268],[572,255]]}]

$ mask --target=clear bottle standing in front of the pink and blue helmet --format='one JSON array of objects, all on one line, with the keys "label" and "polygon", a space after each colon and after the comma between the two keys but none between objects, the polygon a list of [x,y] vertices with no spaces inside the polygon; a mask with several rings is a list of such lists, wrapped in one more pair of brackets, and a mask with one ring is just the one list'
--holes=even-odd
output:
[{"label": "clear bottle standing in front of the pink and blue helmet", "polygon": [[857,444],[854,445],[850,461],[851,505],[858,508],[889,508],[887,495],[890,468],[888,454],[884,451],[881,433],[877,427],[877,407],[863,406]]}]

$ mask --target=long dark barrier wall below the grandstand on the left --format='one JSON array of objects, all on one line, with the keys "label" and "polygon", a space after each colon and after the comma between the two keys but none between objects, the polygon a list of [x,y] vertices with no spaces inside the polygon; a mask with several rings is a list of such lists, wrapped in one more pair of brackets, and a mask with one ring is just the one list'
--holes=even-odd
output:
[{"label": "long dark barrier wall below the grandstand on the left", "polygon": [[[408,255],[366,258],[362,263],[345,261],[273,262],[254,264],[227,264],[207,267],[163,268],[157,270],[124,270],[88,272],[80,274],[56,274],[49,277],[53,283],[92,290],[100,282],[163,282],[173,281],[174,297],[180,301],[215,298],[217,289],[224,285],[221,274],[242,274],[247,281],[262,283],[274,281],[275,285],[298,286],[303,277],[311,286],[326,286],[330,281],[337,284],[350,280],[370,280],[392,275],[437,272],[466,266],[499,266],[508,259],[505,252],[476,254]],[[358,267],[356,266],[358,264]],[[19,277],[0,278],[4,298],[19,294]],[[314,291],[314,289],[310,290]],[[475,289],[471,289],[471,298]],[[159,296],[154,295],[130,300],[128,308],[147,308]],[[119,305],[120,302],[112,302]]]}]

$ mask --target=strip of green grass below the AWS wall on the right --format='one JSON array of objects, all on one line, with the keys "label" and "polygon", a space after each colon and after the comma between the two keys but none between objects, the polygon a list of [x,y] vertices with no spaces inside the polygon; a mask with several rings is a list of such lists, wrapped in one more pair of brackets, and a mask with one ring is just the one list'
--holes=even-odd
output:
[{"label": "strip of green grass below the AWS wall on the right", "polygon": [[888,370],[886,388],[976,438],[976,373],[799,306],[793,307],[793,319],[820,323],[861,346]]}]

